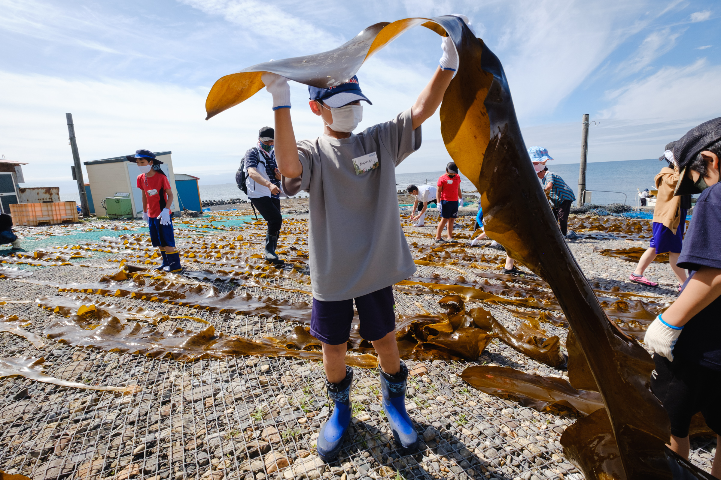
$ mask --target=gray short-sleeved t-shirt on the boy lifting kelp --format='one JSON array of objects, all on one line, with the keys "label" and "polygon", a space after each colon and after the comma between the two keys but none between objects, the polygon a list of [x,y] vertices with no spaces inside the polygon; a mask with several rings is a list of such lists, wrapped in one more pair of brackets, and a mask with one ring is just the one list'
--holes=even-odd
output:
[{"label": "gray short-sleeved t-shirt on the boy lifting kelp", "polygon": [[[415,273],[398,213],[395,168],[420,148],[420,140],[407,109],[349,138],[298,142],[301,189],[310,194],[314,299],[353,299]],[[373,152],[378,166],[356,175],[353,158]]]}]

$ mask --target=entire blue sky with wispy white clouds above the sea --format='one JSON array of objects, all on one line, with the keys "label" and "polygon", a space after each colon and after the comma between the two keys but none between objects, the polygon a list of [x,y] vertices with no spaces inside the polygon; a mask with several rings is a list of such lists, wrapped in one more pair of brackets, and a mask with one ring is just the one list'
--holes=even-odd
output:
[{"label": "entire blue sky with wispy white clouds above the sea", "polygon": [[[578,162],[588,113],[590,161],[654,158],[695,124],[721,116],[720,1],[45,1],[0,0],[0,154],[27,162],[29,185],[72,188],[65,113],[81,160],[172,150],[175,171],[232,182],[270,96],[205,121],[221,76],[336,47],[376,22],[466,14],[502,61],[526,145]],[[363,125],[410,107],[441,55],[423,27],[358,76],[373,100]],[[298,137],[316,137],[306,87],[291,86]],[[438,117],[398,171],[441,170]]]}]

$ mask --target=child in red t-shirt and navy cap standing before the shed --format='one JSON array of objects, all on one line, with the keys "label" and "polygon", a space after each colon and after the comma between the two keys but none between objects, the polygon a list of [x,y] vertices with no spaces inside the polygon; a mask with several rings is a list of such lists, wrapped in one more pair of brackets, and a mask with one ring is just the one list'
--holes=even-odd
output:
[{"label": "child in red t-shirt and navy cap standing before the shed", "polygon": [[167,205],[173,202],[173,192],[165,173],[160,169],[162,161],[155,158],[150,150],[136,150],[127,155],[129,162],[136,163],[141,171],[138,175],[138,189],[143,191],[143,220],[148,222],[150,239],[163,256],[163,263],[156,270],[182,271],[180,253],[175,250],[173,222]]}]

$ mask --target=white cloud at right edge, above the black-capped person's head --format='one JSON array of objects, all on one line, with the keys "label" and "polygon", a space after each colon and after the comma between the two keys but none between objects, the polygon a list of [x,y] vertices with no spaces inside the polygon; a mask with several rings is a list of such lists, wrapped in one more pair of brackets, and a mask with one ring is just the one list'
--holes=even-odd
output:
[{"label": "white cloud at right edge, above the black-capped person's head", "polygon": [[665,67],[647,78],[606,92],[614,105],[602,118],[686,119],[721,115],[721,90],[717,88],[721,65],[705,58],[685,67]]}]

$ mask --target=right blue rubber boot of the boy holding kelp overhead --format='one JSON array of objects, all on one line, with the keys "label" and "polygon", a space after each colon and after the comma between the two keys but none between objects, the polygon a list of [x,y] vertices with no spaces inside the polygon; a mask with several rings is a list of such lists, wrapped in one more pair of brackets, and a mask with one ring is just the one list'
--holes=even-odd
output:
[{"label": "right blue rubber boot of the boy holding kelp overhead", "polygon": [[401,361],[401,369],[395,375],[389,375],[380,366],[378,369],[381,371],[383,411],[391,424],[393,436],[403,448],[412,450],[418,445],[418,433],[405,409],[408,367]]}]

